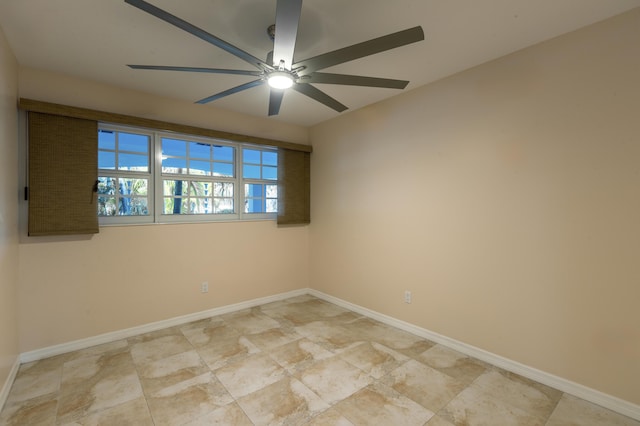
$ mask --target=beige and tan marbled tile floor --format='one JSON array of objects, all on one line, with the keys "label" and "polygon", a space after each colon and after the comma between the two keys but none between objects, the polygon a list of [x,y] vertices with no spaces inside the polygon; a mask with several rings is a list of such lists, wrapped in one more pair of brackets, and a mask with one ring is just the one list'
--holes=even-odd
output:
[{"label": "beige and tan marbled tile floor", "polygon": [[22,365],[1,425],[626,425],[312,296]]}]

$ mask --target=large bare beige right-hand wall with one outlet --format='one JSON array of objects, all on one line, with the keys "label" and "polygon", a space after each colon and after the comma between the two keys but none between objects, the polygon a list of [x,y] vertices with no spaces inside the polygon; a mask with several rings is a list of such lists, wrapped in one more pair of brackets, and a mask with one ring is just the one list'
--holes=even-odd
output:
[{"label": "large bare beige right-hand wall with one outlet", "polygon": [[639,404],[638,40],[640,9],[313,128],[312,288]]}]

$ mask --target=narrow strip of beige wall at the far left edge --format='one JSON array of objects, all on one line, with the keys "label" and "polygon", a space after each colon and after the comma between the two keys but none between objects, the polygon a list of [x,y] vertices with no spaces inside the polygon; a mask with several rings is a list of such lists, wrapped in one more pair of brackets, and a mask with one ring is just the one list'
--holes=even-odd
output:
[{"label": "narrow strip of beige wall at the far left edge", "polygon": [[0,28],[0,389],[18,356],[18,64]]}]

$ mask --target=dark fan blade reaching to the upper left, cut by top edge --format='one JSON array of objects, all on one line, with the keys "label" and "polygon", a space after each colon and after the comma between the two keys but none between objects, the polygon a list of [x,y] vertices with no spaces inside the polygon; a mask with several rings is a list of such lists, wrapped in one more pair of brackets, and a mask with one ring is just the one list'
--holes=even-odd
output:
[{"label": "dark fan blade reaching to the upper left, cut by top edge", "polygon": [[258,69],[272,69],[273,67],[271,67],[271,65],[268,65],[266,62],[263,62],[262,60],[256,58],[253,55],[250,55],[249,53],[245,52],[244,50],[241,50],[237,47],[235,47],[234,45],[227,43],[224,40],[219,39],[218,37],[214,36],[213,34],[209,34],[208,32],[206,32],[203,29],[200,29],[198,27],[196,27],[195,25],[192,25],[190,23],[188,23],[187,21],[184,21],[180,18],[178,18],[177,16],[174,16],[172,14],[170,14],[169,12],[166,12],[162,9],[160,9],[159,7],[156,7],[152,4],[147,3],[144,0],[124,0],[125,3],[130,4],[131,6],[137,7],[138,9],[147,12],[153,16],[155,16],[158,19],[161,19],[165,22],[168,22],[171,25],[174,25],[178,28],[180,28],[181,30],[184,30],[186,32],[188,32],[189,34],[192,34],[208,43],[213,44],[214,46],[219,47],[220,49],[223,49],[229,53],[231,53],[232,55],[250,63],[251,65],[257,67]]}]

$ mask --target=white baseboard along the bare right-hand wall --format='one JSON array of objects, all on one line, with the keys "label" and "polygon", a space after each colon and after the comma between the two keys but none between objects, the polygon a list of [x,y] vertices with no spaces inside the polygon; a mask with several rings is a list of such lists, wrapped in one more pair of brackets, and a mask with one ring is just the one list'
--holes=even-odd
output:
[{"label": "white baseboard along the bare right-hand wall", "polygon": [[416,336],[424,337],[425,339],[439,343],[443,346],[447,346],[448,348],[461,352],[470,357],[479,359],[496,367],[519,374],[528,379],[535,380],[536,382],[558,389],[562,392],[571,394],[601,407],[608,408],[609,410],[615,411],[632,419],[640,420],[640,405],[633,404],[615,396],[608,395],[606,393],[597,391],[595,389],[572,382],[567,379],[563,379],[562,377],[546,373],[533,367],[520,364],[519,362],[501,357],[500,355],[493,354],[491,352],[468,345],[458,340],[451,339],[422,327],[418,327],[408,322],[404,322],[388,315],[384,315],[371,309],[356,305],[354,303],[347,302],[346,300],[330,296],[326,293],[322,293],[321,291],[309,289],[308,293],[312,296],[318,297],[319,299],[323,299],[345,309],[349,309],[350,311],[378,320],[382,323],[407,331],[411,334],[415,334]]}]

